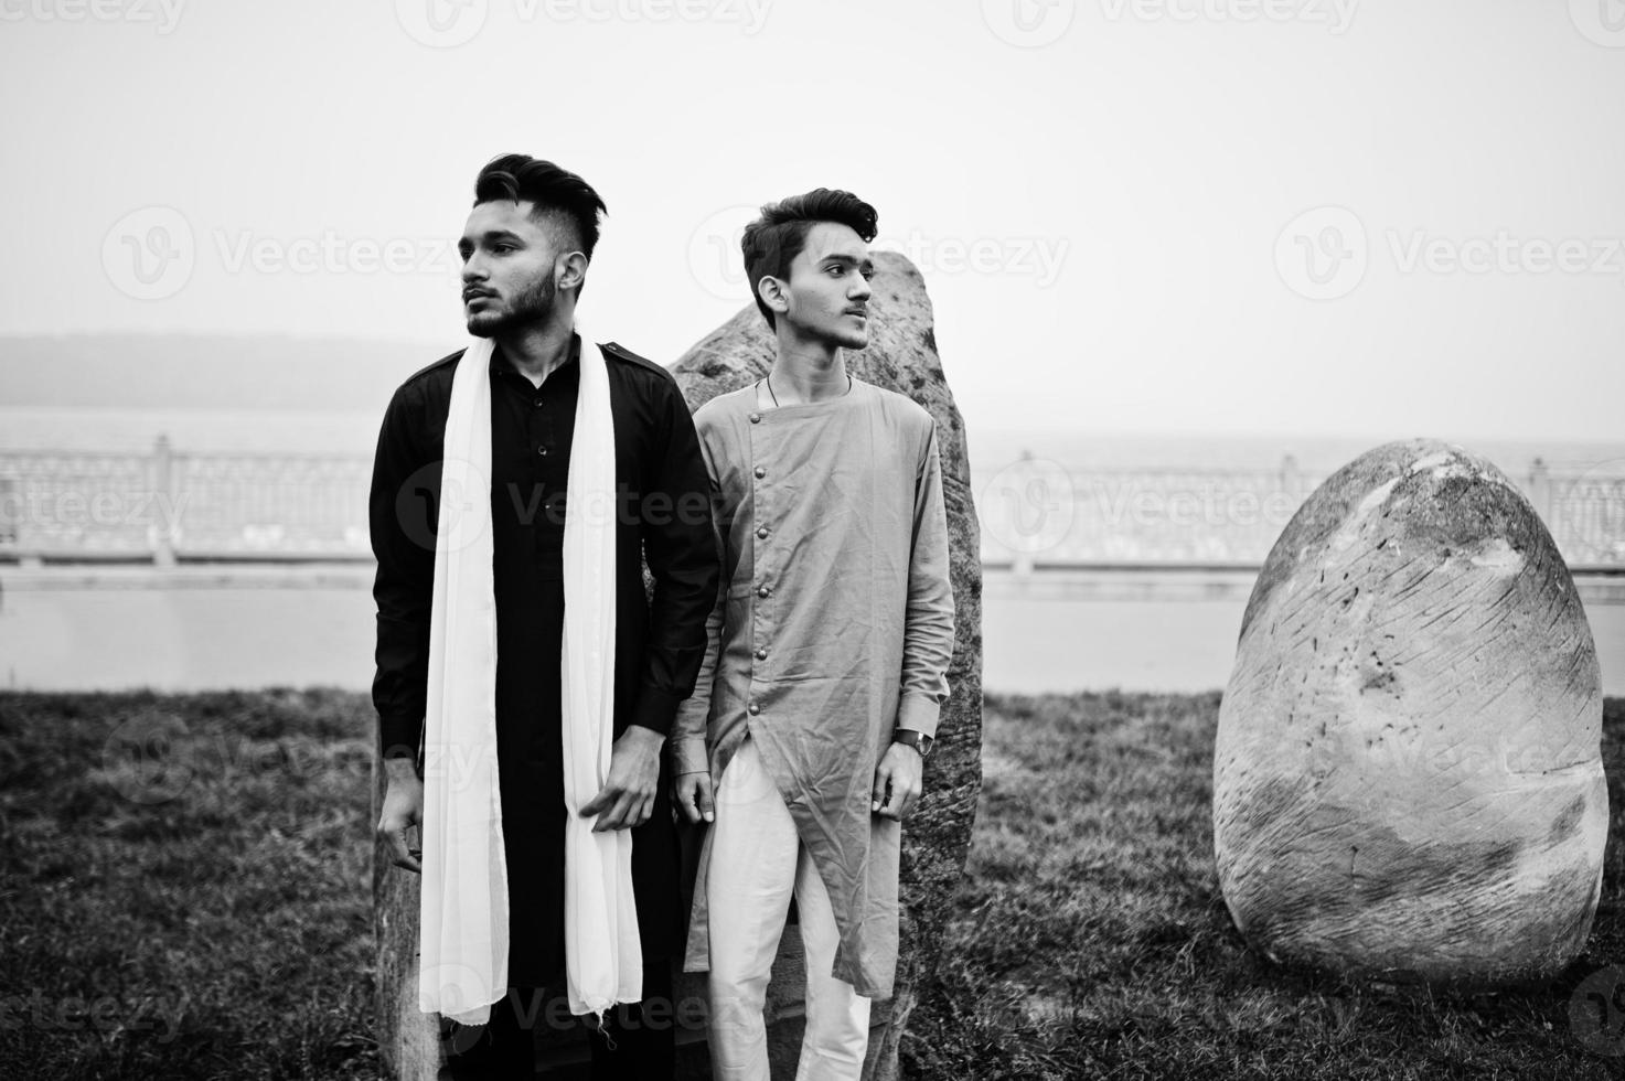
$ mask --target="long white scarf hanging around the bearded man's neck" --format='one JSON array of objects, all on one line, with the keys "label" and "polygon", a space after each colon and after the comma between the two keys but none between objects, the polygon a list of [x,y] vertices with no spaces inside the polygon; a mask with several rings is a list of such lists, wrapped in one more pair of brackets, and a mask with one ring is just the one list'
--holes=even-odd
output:
[{"label": "long white scarf hanging around the bearded man's neck", "polygon": [[[497,787],[497,610],[491,535],[491,351],[452,376],[424,714],[418,1008],[486,1024],[507,995],[509,897]],[[582,341],[564,514],[564,956],[570,1013],[639,1001],[632,834],[580,816],[614,740],[616,497],[608,358]],[[546,658],[536,658],[546,663]]]}]

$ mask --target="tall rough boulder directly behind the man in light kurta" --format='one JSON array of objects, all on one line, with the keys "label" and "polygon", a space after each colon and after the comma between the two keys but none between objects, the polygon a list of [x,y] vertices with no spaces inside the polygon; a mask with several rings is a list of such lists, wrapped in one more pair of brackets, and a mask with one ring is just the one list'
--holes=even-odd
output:
[{"label": "tall rough boulder directly behind the man in light kurta", "polygon": [[[942,376],[936,332],[925,281],[902,255],[874,254],[874,296],[869,299],[869,346],[847,358],[848,371],[878,387],[908,395],[936,418],[947,532],[952,546],[954,660],[949,668],[952,696],[942,707],[936,748],[926,759],[925,795],[904,824],[902,938],[895,993],[876,1003],[874,1031],[864,1078],[897,1076],[897,1047],[920,992],[936,969],[942,928],[954,888],[965,870],[970,826],[982,790],[982,559],[977,510],[970,499],[970,460],[965,423]],[[705,335],[682,354],[673,372],[697,410],[718,393],[756,382],[772,367],[775,341],[754,304]],[[796,951],[800,940],[785,935],[782,954]],[[783,961],[783,957],[782,957]],[[780,972],[786,979],[780,979]],[[795,1074],[801,1024],[800,966],[775,969],[772,1001],[777,1013],[769,1040],[777,1066]]]}]

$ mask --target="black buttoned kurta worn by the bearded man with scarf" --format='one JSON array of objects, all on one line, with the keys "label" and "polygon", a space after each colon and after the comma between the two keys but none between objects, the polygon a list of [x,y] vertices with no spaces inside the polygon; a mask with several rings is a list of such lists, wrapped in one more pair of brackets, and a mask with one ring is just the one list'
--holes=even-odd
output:
[{"label": "black buttoned kurta worn by the bearded man with scarf", "polygon": [[[717,598],[710,480],[694,421],[666,369],[604,346],[616,444],[614,732],[666,733],[694,691]],[[509,982],[546,985],[564,962],[564,507],[580,385],[580,338],[538,389],[491,361],[491,520],[497,601],[497,766],[507,850]],[[416,756],[429,679],[434,535],[453,353],[408,379],[384,416],[370,525],[379,559],[372,701],[387,758]],[[642,561],[655,580],[645,593]],[[632,888],[647,961],[676,951],[681,907],[666,766],[655,811],[632,831]],[[421,762],[419,762],[421,771]]]}]

